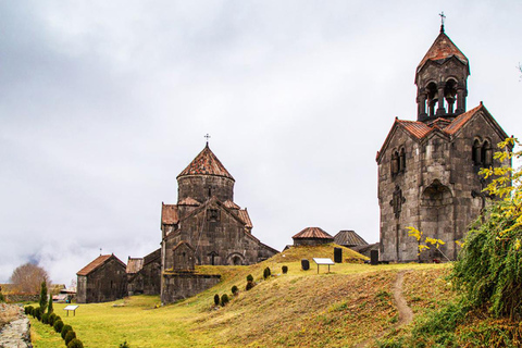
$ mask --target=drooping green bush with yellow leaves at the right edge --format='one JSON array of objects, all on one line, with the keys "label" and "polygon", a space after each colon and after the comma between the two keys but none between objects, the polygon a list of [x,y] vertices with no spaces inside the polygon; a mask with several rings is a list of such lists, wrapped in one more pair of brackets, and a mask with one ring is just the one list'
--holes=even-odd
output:
[{"label": "drooping green bush with yellow leaves at the right edge", "polygon": [[[495,159],[502,163],[521,159],[522,151],[511,151],[517,139],[499,144],[502,151]],[[474,308],[490,304],[495,316],[522,319],[522,170],[510,165],[481,170],[490,183],[489,195],[499,200],[475,222],[468,234],[453,279]]]}]

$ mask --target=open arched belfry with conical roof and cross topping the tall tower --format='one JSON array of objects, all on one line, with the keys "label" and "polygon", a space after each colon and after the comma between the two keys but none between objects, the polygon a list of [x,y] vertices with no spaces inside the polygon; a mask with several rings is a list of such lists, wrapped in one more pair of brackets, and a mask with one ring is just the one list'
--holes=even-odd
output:
[{"label": "open arched belfry with conical roof and cross topping the tall tower", "polygon": [[465,55],[444,32],[443,24],[415,72],[418,121],[449,121],[465,112],[470,64]]}]

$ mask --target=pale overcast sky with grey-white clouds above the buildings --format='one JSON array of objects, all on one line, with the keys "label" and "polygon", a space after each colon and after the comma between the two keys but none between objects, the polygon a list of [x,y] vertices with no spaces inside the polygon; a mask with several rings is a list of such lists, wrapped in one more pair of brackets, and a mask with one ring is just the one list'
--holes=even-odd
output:
[{"label": "pale overcast sky with grey-white clouds above the buildings", "polygon": [[207,133],[263,243],[377,241],[375,153],[440,11],[468,107],[522,136],[520,1],[0,1],[0,283],[158,248]]}]

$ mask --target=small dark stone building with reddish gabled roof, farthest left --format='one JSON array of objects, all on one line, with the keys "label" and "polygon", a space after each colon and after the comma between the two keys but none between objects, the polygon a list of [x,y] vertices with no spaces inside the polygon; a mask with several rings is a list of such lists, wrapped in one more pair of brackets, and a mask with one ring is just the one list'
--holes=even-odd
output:
[{"label": "small dark stone building with reddish gabled roof, farthest left", "polygon": [[100,254],[77,275],[78,303],[107,302],[127,295],[126,265],[114,254]]}]

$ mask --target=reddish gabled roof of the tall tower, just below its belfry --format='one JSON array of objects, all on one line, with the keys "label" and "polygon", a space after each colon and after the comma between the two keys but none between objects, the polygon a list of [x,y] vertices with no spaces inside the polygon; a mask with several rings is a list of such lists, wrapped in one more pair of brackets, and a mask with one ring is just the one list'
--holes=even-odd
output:
[{"label": "reddish gabled roof of the tall tower, just below its belfry", "polygon": [[498,132],[500,138],[505,139],[508,137],[506,132],[504,132],[504,129],[495,121],[495,119],[492,116],[492,114],[487,111],[487,109],[481,101],[478,107],[468,110],[467,112],[455,117],[452,121],[440,117],[431,122],[430,124],[426,124],[419,121],[405,121],[395,119],[395,123],[391,126],[391,129],[389,130],[386,140],[384,140],[381,150],[377,151],[376,161],[380,161],[381,156],[384,153],[393,136],[399,128],[406,130],[417,141],[425,139],[432,133],[438,133],[444,137],[451,138],[478,113],[482,113],[486,117],[486,120],[490,123],[495,130]]}]

